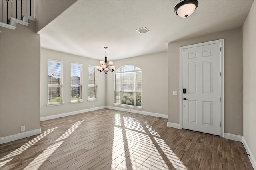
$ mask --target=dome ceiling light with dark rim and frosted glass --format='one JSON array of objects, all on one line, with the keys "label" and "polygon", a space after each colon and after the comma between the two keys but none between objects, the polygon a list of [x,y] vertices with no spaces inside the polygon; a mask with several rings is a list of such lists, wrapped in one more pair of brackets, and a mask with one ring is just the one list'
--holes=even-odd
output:
[{"label": "dome ceiling light with dark rim and frosted glass", "polygon": [[198,6],[197,0],[180,0],[174,7],[174,13],[182,18],[187,18],[196,10]]}]

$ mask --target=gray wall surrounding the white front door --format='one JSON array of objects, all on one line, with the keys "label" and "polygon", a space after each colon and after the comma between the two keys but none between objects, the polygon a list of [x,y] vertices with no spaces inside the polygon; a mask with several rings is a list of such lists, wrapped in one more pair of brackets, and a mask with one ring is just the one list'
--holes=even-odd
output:
[{"label": "gray wall surrounding the white front door", "polygon": [[168,43],[168,122],[179,123],[179,47],[224,39],[224,131],[243,135],[242,28]]}]

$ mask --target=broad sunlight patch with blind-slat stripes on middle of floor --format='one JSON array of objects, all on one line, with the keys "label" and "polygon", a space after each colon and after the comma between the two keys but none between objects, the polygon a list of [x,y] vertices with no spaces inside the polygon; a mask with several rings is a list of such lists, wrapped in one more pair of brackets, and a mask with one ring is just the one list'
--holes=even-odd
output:
[{"label": "broad sunlight patch with blind-slat stripes on middle of floor", "polygon": [[[141,124],[133,117],[123,117],[123,120],[125,130],[114,127],[111,169],[186,170],[187,167],[150,123]],[[115,115],[115,125],[122,126],[120,114]]]}]

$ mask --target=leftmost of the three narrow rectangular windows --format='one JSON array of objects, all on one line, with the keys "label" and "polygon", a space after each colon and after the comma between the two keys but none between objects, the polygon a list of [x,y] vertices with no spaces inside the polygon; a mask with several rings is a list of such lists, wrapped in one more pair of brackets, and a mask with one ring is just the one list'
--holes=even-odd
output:
[{"label": "leftmost of the three narrow rectangular windows", "polygon": [[48,104],[63,103],[63,62],[48,60]]}]

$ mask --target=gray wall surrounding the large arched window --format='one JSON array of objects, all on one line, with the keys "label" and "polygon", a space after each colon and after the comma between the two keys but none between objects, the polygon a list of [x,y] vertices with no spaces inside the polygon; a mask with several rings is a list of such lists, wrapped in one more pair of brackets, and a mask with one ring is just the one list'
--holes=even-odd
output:
[{"label": "gray wall surrounding the large arched window", "polygon": [[[124,65],[142,69],[142,109],[138,110],[167,115],[167,52],[115,60],[113,65],[116,69]],[[106,106],[114,103],[113,82],[114,76],[110,72],[107,75]],[[128,110],[128,107],[121,108]]]}]

